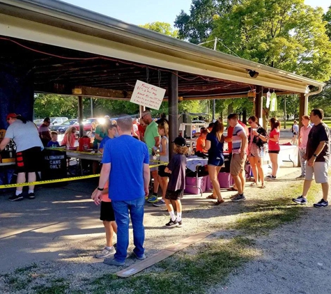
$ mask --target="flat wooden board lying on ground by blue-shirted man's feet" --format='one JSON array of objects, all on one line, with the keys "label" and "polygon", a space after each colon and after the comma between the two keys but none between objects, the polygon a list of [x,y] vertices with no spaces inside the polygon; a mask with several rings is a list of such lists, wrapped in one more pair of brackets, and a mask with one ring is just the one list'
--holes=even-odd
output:
[{"label": "flat wooden board lying on ground by blue-shirted man's feet", "polygon": [[165,258],[175,254],[176,252],[186,247],[189,247],[193,243],[196,243],[206,238],[208,235],[210,235],[210,233],[206,233],[206,232],[192,235],[189,238],[185,238],[184,240],[181,240],[178,243],[166,247],[160,252],[157,252],[157,254],[154,254],[146,258],[144,261],[139,261],[137,263],[134,263],[133,265],[130,265],[128,268],[125,268],[124,270],[120,270],[119,272],[116,272],[116,274],[118,275],[118,277],[122,277],[122,278],[130,277],[132,276],[132,274],[137,274],[137,272],[141,272],[141,270],[144,270],[145,268],[149,268],[151,265],[155,265],[155,263],[163,261]]}]

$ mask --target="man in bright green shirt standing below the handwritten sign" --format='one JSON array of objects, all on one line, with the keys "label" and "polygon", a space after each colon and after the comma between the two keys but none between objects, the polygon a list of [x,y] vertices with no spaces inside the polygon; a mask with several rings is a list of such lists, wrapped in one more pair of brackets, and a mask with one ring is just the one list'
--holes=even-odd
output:
[{"label": "man in bright green shirt standing below the handwritten sign", "polygon": [[[148,147],[148,154],[150,160],[153,160],[152,151],[157,150],[157,148],[160,145],[160,135],[159,132],[157,132],[157,123],[153,121],[151,111],[145,110],[141,114],[141,118],[144,120],[144,123],[146,123],[146,131],[145,131],[145,143]],[[149,203],[157,202],[157,190],[159,189],[159,180],[157,175],[157,167],[151,168],[151,174],[154,179],[154,185],[153,185],[153,195],[148,198]]]}]

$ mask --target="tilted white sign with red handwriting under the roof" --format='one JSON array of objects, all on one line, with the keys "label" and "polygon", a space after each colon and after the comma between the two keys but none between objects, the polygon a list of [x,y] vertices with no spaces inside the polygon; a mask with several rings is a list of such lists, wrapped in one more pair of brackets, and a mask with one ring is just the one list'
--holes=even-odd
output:
[{"label": "tilted white sign with red handwriting under the roof", "polygon": [[164,88],[159,88],[137,79],[130,102],[158,110],[160,109],[164,94]]}]

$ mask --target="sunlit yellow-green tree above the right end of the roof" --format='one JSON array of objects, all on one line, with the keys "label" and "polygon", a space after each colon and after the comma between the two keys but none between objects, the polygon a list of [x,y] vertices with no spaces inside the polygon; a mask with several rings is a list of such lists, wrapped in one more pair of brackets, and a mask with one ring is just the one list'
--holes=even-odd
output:
[{"label": "sunlit yellow-green tree above the right end of the roof", "polygon": [[[215,20],[219,38],[238,56],[325,81],[331,75],[331,42],[322,8],[304,0],[244,0]],[[217,49],[231,54],[222,43]]]}]

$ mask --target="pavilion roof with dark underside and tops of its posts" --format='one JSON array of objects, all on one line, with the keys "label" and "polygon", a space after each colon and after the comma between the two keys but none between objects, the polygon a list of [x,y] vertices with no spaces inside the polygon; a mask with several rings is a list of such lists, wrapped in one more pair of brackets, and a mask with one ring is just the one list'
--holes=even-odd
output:
[{"label": "pavilion roof with dark underside and tops of its posts", "polygon": [[[256,93],[308,96],[324,84],[215,52],[57,0],[0,0],[0,129],[6,114],[33,116],[33,93],[130,100],[137,79],[166,88],[170,139],[178,134],[178,98],[243,98]],[[309,88],[317,91],[309,93]]]}]

